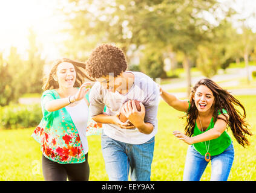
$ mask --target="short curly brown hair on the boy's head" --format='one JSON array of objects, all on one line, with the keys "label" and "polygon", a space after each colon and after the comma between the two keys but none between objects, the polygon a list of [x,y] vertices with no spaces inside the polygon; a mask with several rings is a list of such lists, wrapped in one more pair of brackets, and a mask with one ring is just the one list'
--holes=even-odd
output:
[{"label": "short curly brown hair on the boy's head", "polygon": [[110,74],[117,77],[127,68],[123,51],[107,43],[95,48],[86,63],[86,71],[92,78],[105,77]]}]

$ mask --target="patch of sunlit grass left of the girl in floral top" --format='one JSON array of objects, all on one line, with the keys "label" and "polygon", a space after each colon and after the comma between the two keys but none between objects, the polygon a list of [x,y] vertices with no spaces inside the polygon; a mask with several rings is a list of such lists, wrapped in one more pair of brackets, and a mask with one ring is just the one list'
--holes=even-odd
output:
[{"label": "patch of sunlit grass left of the girl in floral top", "polygon": [[30,137],[32,131],[32,128],[0,131],[0,180],[44,180],[42,154],[38,143]]}]

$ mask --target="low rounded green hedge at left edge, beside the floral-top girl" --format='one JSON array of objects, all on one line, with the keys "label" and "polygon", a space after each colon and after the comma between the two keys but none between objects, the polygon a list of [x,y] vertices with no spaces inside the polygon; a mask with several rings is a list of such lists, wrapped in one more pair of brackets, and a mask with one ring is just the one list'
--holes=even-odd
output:
[{"label": "low rounded green hedge at left edge, beside the floral-top girl", "polygon": [[0,108],[0,128],[35,127],[41,119],[42,110],[39,104],[12,104]]}]

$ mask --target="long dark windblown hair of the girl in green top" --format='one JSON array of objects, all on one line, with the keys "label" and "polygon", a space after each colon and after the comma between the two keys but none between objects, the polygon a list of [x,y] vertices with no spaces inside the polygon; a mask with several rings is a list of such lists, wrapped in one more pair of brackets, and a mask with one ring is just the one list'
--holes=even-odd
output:
[{"label": "long dark windblown hair of the girl in green top", "polygon": [[[246,122],[246,111],[245,107],[229,93],[227,90],[222,89],[222,87],[218,86],[217,83],[212,81],[209,78],[203,78],[199,82],[195,84],[195,86],[191,90],[191,95],[189,102],[191,104],[188,112],[186,113],[186,125],[185,125],[185,134],[187,136],[192,136],[195,128],[195,120],[199,115],[197,107],[195,106],[194,95],[197,88],[201,85],[207,86],[214,95],[214,103],[212,104],[213,110],[213,118],[214,121],[217,119],[223,119],[218,117],[218,112],[222,112],[222,109],[225,109],[228,112],[229,119],[223,119],[228,124],[228,127],[231,128],[232,134],[237,140],[238,144],[245,147],[245,145],[249,145],[249,141],[246,138],[246,134],[249,136],[252,135],[251,131],[248,129],[248,123]],[[235,106],[241,108],[242,113],[235,109]]]}]

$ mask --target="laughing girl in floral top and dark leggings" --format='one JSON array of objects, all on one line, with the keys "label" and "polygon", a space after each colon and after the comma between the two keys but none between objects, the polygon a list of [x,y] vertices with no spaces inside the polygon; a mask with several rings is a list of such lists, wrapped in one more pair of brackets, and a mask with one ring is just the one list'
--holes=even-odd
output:
[{"label": "laughing girl in floral top and dark leggings", "polygon": [[[41,144],[45,180],[88,180],[88,106],[85,63],[57,60],[43,87],[43,118],[32,136]],[[90,79],[90,78],[88,78]],[[91,79],[90,79],[91,80]]]}]

